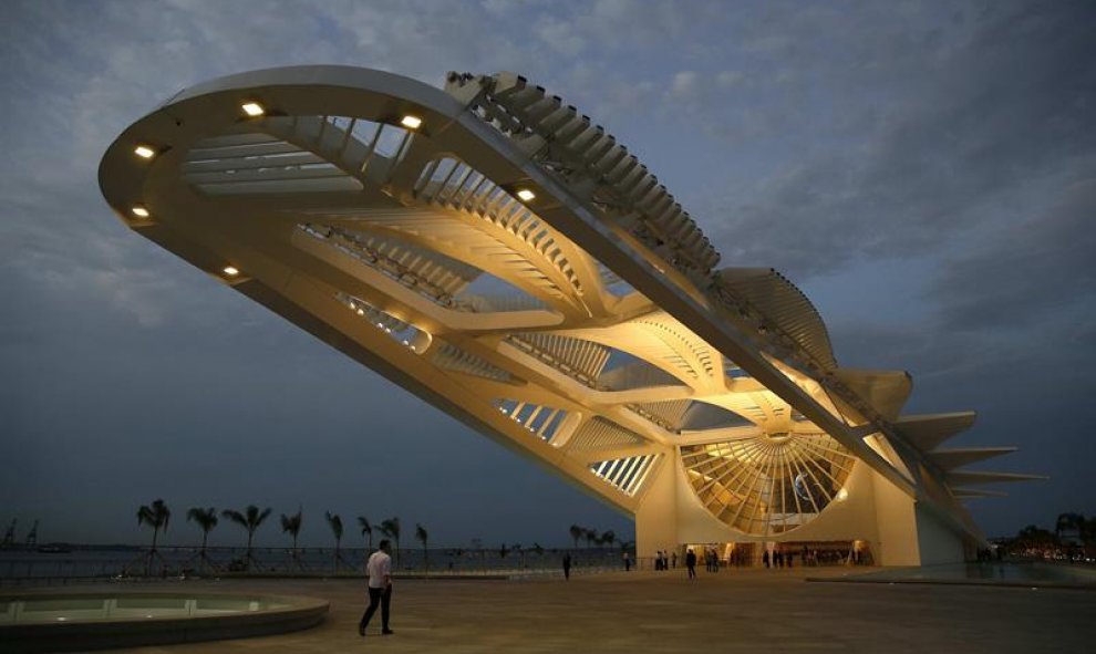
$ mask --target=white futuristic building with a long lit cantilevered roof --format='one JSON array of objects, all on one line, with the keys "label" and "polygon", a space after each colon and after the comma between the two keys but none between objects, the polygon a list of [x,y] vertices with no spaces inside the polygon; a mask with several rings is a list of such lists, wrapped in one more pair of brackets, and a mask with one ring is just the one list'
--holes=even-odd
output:
[{"label": "white futuristic building with a long lit cantilevered roof", "polygon": [[[602,127],[510,74],[342,66],[187,89],[100,168],[136,232],[634,516],[638,553],[983,541],[904,372],[838,366],[804,294],[720,255]],[[748,239],[749,235],[740,238]]]}]

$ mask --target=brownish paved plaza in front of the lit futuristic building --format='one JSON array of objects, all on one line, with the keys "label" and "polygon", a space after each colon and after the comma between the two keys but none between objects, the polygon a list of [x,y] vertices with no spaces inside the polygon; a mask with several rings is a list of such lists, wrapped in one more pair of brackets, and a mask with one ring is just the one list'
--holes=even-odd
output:
[{"label": "brownish paved plaza in front of the lit futuristic building", "polygon": [[679,569],[569,582],[396,580],[395,634],[382,637],[376,615],[365,639],[356,633],[361,582],[192,582],[323,598],[331,612],[320,626],[299,633],[124,652],[1034,653],[1087,651],[1096,636],[1093,591],[805,581],[844,573],[701,571],[690,582]]}]

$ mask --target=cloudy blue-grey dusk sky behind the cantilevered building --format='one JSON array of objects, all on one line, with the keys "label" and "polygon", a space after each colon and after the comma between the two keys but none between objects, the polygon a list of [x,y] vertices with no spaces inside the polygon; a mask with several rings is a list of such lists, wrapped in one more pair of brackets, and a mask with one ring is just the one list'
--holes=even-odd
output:
[{"label": "cloudy blue-grey dusk sky behind the cantilevered building", "polygon": [[[144,540],[193,506],[423,522],[438,544],[628,520],[131,233],[106,146],[182,87],[306,63],[517,71],[590,114],[726,266],[815,301],[838,361],[1042,473],[972,505],[992,534],[1096,513],[1092,2],[0,3],[0,521]],[[428,453],[428,454],[427,454]],[[213,542],[235,544],[235,530]],[[279,544],[273,527],[260,544]]]}]

